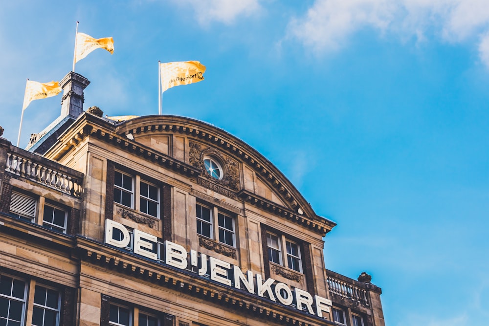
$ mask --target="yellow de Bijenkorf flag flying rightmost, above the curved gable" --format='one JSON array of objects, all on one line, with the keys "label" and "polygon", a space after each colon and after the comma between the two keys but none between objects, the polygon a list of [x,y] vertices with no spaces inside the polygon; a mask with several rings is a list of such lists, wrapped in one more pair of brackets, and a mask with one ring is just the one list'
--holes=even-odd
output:
[{"label": "yellow de Bijenkorf flag flying rightmost, above the curved gable", "polygon": [[204,80],[205,65],[199,61],[179,61],[160,64],[161,92],[168,88]]}]

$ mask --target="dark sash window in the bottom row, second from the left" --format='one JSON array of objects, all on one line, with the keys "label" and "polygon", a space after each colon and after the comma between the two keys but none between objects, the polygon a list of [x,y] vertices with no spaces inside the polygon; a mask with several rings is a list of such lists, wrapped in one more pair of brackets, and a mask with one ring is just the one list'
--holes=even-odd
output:
[{"label": "dark sash window in the bottom row, second from the left", "polygon": [[36,285],[32,326],[59,325],[60,300],[61,296],[58,291]]}]

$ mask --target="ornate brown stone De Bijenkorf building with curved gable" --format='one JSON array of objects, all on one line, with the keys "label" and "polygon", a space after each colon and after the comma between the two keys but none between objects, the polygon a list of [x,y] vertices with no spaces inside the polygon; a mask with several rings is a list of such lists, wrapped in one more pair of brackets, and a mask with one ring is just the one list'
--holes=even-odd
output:
[{"label": "ornate brown stone De Bijenkorf building with curved gable", "polygon": [[259,152],[206,123],[62,114],[0,138],[1,325],[384,326],[381,290],[325,268],[316,215]]}]

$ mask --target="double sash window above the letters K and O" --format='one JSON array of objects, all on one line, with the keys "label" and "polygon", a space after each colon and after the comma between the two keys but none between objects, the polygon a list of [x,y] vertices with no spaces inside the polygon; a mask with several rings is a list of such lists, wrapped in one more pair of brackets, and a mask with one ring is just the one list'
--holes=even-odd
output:
[{"label": "double sash window above the letters K and O", "polygon": [[[286,248],[285,257],[282,251],[284,247]],[[267,251],[268,261],[285,265],[302,273],[301,250],[296,242],[287,239],[283,235],[267,233]],[[286,261],[286,263],[283,263],[283,261]]]}]

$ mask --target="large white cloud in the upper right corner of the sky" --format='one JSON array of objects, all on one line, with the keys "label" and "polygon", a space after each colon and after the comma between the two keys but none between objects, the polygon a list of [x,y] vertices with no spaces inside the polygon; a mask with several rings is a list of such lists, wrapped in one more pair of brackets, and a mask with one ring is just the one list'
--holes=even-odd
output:
[{"label": "large white cloud in the upper right corner of the sky", "polygon": [[307,14],[290,20],[288,36],[323,53],[344,47],[364,28],[418,42],[479,40],[481,60],[489,66],[487,0],[316,0]]}]

